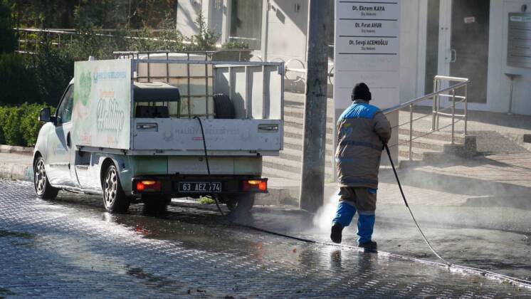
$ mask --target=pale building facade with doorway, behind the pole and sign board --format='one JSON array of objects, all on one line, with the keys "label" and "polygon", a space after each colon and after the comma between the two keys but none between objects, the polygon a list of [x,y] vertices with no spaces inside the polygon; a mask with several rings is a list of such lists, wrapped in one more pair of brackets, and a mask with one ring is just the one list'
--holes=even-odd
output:
[{"label": "pale building facade with doorway, behind the pole and sign board", "polygon": [[[194,19],[202,11],[220,43],[243,41],[255,56],[284,61],[288,68],[305,68],[309,0],[179,0],[177,28],[196,31]],[[331,7],[333,0],[327,0]],[[512,112],[531,115],[531,68],[526,64],[531,48],[531,28],[518,29],[515,46],[510,35],[510,14],[531,12],[531,0],[397,0],[401,1],[400,99],[401,102],[433,91],[434,75],[469,78],[469,108],[508,112],[511,77]],[[333,9],[330,28],[333,28]],[[512,15],[514,16],[514,15]],[[522,24],[531,14],[519,14]],[[528,19],[529,18],[529,19]],[[529,38],[527,45],[526,36]],[[333,65],[334,33],[330,43]],[[512,41],[510,41],[512,40]],[[522,48],[522,63],[510,63],[508,53]],[[529,53],[531,61],[531,53]],[[301,73],[288,72],[290,78]],[[353,83],[354,84],[354,83]]]}]

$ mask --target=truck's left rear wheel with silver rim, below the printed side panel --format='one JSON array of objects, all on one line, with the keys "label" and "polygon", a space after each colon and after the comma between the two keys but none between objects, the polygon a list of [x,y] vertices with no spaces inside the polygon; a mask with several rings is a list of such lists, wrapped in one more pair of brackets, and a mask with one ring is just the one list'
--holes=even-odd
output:
[{"label": "truck's left rear wheel with silver rim, below the printed side panel", "polygon": [[102,177],[103,205],[110,213],[125,213],[130,199],[125,196],[120,177],[114,164],[110,163]]}]

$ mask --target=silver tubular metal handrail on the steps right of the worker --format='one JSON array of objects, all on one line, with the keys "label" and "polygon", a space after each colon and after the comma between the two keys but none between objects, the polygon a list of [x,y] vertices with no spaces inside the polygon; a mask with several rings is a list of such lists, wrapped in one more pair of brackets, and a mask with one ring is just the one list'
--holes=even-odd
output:
[{"label": "silver tubular metal handrail on the steps right of the worker", "polygon": [[[456,84],[453,84],[451,86],[448,86],[448,88],[442,88],[442,89],[439,89],[441,87],[441,83],[443,81],[447,81],[447,82],[457,82]],[[459,122],[461,120],[464,120],[464,130],[463,130],[463,134],[466,135],[467,134],[467,117],[468,117],[468,84],[470,83],[470,80],[468,80],[468,78],[459,78],[459,77],[449,77],[449,76],[443,76],[443,75],[436,75],[434,78],[433,78],[433,93],[429,93],[428,95],[423,95],[419,98],[414,98],[413,100],[409,100],[405,103],[401,103],[400,105],[396,105],[394,107],[390,107],[390,108],[387,108],[387,109],[384,109],[382,110],[382,112],[385,114],[385,115],[388,115],[389,113],[392,113],[392,112],[396,112],[396,111],[399,111],[399,110],[402,110],[404,109],[405,107],[409,107],[409,121],[408,122],[404,122],[402,124],[399,124],[397,125],[396,127],[400,127],[401,125],[408,125],[409,124],[409,140],[405,141],[405,142],[397,142],[396,145],[392,145],[392,147],[398,147],[399,145],[403,145],[405,143],[409,143],[409,154],[408,154],[408,159],[412,159],[412,144],[413,144],[413,141],[418,139],[418,138],[421,138],[421,137],[424,137],[426,135],[429,135],[433,132],[437,132],[439,130],[442,130],[446,127],[451,127],[451,144],[454,144],[454,141],[455,141],[455,124],[456,122]],[[461,96],[461,95],[456,95],[456,90],[458,89],[461,89],[463,88],[464,89],[464,95]],[[446,98],[451,98],[451,106],[450,107],[445,107],[445,108],[442,108],[441,109],[441,103],[439,101],[439,98],[440,97],[446,97]],[[456,98],[460,99],[458,102],[456,102]],[[421,120],[425,117],[428,117],[430,115],[424,115],[422,117],[417,117],[416,119],[413,118],[413,107],[414,105],[416,105],[417,103],[420,103],[420,102],[423,102],[425,100],[433,100],[433,105],[432,105],[432,110],[431,110],[431,117],[432,117],[432,126],[431,126],[431,131],[430,132],[427,132],[426,134],[424,135],[421,135],[421,136],[417,136],[417,137],[413,137],[413,123],[417,120]],[[464,104],[464,112],[463,114],[456,114],[456,103],[463,103]],[[443,112],[445,110],[448,110],[448,109],[451,109],[451,113],[446,113],[446,112]],[[439,123],[439,117],[441,116],[446,116],[446,117],[451,117],[451,124],[450,125],[446,125],[444,127],[439,127],[438,123]],[[456,117],[458,117],[459,119],[456,121]]]}]

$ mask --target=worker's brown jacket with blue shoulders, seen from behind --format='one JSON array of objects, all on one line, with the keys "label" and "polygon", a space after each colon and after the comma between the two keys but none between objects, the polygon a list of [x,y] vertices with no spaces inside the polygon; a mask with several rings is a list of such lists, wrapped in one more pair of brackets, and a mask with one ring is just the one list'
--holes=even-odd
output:
[{"label": "worker's brown jacket with blue shoulders, seen from behind", "polygon": [[355,100],[337,121],[335,152],[340,187],[378,188],[382,142],[389,142],[391,125],[378,107]]}]

